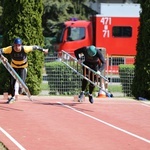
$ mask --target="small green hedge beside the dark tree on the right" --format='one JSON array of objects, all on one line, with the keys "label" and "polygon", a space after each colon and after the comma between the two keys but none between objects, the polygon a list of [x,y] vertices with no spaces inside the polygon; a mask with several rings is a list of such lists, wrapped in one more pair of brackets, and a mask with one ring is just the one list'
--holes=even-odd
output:
[{"label": "small green hedge beside the dark tree on the right", "polygon": [[131,86],[134,78],[134,65],[119,65],[119,75],[123,93],[126,96],[132,96]]}]

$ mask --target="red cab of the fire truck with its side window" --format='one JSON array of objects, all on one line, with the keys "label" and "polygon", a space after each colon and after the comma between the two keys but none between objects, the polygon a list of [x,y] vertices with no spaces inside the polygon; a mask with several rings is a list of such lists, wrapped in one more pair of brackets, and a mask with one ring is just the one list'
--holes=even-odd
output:
[{"label": "red cab of the fire truck with its side window", "polygon": [[74,55],[74,50],[93,43],[92,22],[85,20],[66,21],[59,25],[55,37],[55,51],[61,50]]}]

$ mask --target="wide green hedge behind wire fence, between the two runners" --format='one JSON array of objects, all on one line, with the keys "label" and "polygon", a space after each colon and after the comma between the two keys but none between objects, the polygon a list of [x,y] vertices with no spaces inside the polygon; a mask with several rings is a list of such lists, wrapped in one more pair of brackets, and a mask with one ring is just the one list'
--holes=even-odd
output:
[{"label": "wide green hedge behind wire fence, between the two runners", "polygon": [[81,90],[81,78],[62,62],[45,63],[51,95],[73,95]]}]

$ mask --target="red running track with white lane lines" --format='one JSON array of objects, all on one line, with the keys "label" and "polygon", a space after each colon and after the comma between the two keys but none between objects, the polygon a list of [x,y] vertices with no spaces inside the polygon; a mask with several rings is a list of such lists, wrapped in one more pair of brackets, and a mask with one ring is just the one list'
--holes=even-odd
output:
[{"label": "red running track with white lane lines", "polygon": [[9,150],[150,150],[150,102],[0,96],[0,141]]}]

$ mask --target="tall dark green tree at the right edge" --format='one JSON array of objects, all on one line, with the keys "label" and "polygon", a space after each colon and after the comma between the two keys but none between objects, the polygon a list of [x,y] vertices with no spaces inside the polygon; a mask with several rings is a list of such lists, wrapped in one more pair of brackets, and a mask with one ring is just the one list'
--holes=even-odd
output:
[{"label": "tall dark green tree at the right edge", "polygon": [[150,99],[150,1],[140,0],[142,12],[135,57],[135,77],[132,93],[138,97]]}]

